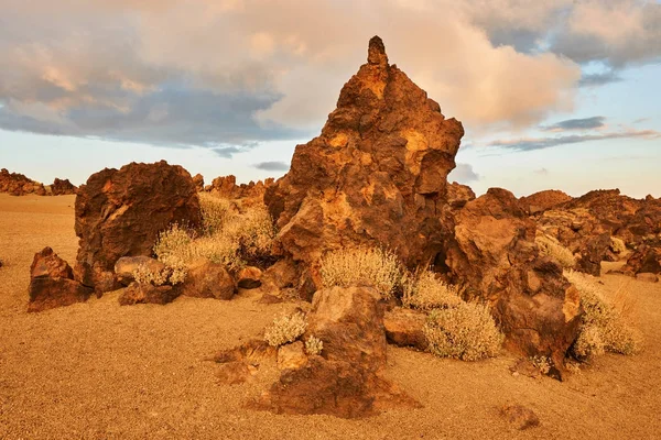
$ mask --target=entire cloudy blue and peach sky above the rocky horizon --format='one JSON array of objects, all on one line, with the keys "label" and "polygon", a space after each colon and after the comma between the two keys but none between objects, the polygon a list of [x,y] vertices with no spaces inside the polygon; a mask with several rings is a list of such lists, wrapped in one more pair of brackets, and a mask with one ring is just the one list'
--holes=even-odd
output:
[{"label": "entire cloudy blue and peach sky above the rocky horizon", "polygon": [[0,0],[0,167],[280,177],[372,35],[463,122],[449,180],[661,197],[652,0]]}]

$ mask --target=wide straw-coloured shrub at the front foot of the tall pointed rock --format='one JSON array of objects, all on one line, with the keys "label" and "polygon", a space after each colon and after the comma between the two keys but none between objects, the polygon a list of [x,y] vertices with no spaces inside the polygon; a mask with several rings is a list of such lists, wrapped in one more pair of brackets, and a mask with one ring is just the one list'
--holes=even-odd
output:
[{"label": "wide straw-coloured shrub at the front foot of the tall pointed rock", "polygon": [[402,278],[393,252],[380,248],[340,249],[328,252],[321,261],[324,287],[371,286],[382,298],[391,298]]}]

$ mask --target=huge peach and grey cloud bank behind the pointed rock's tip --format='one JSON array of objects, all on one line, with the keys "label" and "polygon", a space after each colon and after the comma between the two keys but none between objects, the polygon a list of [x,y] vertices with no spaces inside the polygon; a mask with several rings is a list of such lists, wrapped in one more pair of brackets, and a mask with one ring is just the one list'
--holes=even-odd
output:
[{"label": "huge peach and grey cloud bank behind the pointed rock's tip", "polygon": [[[205,147],[310,136],[376,33],[467,125],[571,110],[581,75],[555,54],[490,41],[474,10],[446,0],[0,2],[4,130]],[[552,22],[535,11],[521,22]]]}]

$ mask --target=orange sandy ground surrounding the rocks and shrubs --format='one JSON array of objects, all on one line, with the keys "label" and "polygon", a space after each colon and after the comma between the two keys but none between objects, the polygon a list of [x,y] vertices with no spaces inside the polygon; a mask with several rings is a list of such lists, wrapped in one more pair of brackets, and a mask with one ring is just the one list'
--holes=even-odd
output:
[{"label": "orange sandy ground surrounding the rocks and shrubs", "polygon": [[[389,349],[388,375],[423,408],[362,420],[277,416],[242,408],[252,385],[219,385],[219,349],[257,336],[295,305],[180,298],[120,307],[116,294],[26,314],[33,254],[52,246],[75,261],[74,197],[0,195],[1,439],[652,439],[661,437],[661,284],[603,277],[636,296],[646,349],[605,355],[560,383],[512,376],[513,358],[477,363]],[[505,404],[541,426],[517,431]]]}]

